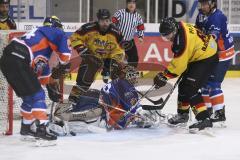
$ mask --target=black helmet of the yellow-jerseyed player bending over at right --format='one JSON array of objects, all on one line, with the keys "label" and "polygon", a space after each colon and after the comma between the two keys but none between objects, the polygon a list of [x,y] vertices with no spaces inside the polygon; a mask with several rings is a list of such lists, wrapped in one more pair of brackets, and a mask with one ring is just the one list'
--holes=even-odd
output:
[{"label": "black helmet of the yellow-jerseyed player bending over at right", "polygon": [[177,31],[177,21],[173,17],[163,18],[160,22],[159,32],[162,36],[167,36]]}]

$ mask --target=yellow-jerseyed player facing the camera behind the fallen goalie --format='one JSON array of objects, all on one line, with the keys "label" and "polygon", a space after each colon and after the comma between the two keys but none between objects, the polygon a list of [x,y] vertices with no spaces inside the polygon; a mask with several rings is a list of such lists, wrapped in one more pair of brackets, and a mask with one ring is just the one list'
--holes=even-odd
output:
[{"label": "yellow-jerseyed player facing the camera behind the fallen goalie", "polygon": [[107,9],[100,9],[97,18],[97,22],[84,24],[70,37],[71,47],[82,58],[77,84],[69,96],[73,104],[89,89],[97,71],[103,67],[105,59],[111,59],[110,75],[114,78],[114,73],[125,57],[124,49],[120,45],[122,36],[111,24],[110,12]]}]

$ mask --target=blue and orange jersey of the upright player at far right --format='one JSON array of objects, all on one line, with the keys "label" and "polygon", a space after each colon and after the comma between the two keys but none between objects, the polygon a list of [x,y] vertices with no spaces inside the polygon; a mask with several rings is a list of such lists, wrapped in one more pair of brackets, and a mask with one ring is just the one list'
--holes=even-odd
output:
[{"label": "blue and orange jersey of the upright player at far right", "polygon": [[227,17],[222,11],[216,9],[209,16],[200,11],[196,19],[196,27],[205,34],[214,36],[218,44],[220,61],[229,60],[234,56],[233,37],[228,32]]}]

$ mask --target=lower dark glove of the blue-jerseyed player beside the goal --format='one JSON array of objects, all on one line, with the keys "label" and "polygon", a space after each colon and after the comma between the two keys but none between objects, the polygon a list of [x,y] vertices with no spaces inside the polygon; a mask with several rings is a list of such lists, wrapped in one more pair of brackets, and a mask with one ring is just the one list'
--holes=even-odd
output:
[{"label": "lower dark glove of the blue-jerseyed player beside the goal", "polygon": [[60,93],[60,88],[59,88],[59,83],[50,83],[47,84],[46,86],[48,90],[48,97],[53,101],[53,102],[60,102],[62,99],[62,94]]}]

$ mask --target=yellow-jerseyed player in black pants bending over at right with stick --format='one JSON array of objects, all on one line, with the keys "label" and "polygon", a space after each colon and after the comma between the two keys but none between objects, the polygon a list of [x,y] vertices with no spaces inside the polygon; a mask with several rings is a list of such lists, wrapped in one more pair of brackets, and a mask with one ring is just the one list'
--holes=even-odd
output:
[{"label": "yellow-jerseyed player in black pants bending over at right with stick", "polygon": [[193,25],[164,18],[160,34],[172,43],[174,57],[165,71],[154,78],[154,84],[163,87],[168,79],[182,75],[178,85],[178,114],[168,120],[171,125],[187,123],[190,107],[197,122],[190,125],[190,132],[212,127],[207,107],[199,93],[213,69],[218,64],[217,44],[211,35],[205,35]]}]

